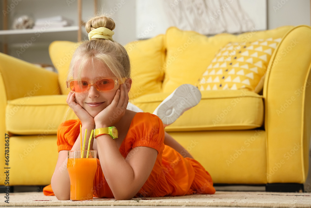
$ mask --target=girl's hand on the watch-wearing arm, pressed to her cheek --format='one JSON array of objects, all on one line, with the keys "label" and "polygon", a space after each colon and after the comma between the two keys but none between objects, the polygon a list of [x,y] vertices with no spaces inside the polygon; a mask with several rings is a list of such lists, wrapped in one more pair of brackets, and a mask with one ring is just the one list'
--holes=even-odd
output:
[{"label": "girl's hand on the watch-wearing arm, pressed to her cheek", "polygon": [[95,125],[113,126],[124,116],[127,106],[128,93],[125,91],[124,85],[121,84],[111,104],[94,117]]}]

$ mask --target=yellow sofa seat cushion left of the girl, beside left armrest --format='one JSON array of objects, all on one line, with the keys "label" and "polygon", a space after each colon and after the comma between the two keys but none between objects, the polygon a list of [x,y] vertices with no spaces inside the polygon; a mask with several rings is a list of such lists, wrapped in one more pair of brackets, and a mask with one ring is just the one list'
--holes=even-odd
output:
[{"label": "yellow sofa seat cushion left of the girl, beside left armrest", "polygon": [[7,131],[16,135],[38,135],[38,138],[56,134],[63,121],[78,119],[66,99],[67,95],[44,95],[7,101]]}]

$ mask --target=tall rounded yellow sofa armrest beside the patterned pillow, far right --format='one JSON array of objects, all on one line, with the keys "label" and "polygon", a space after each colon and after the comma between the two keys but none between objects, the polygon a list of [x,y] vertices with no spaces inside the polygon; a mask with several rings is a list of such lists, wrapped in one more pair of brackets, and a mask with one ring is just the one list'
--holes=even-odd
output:
[{"label": "tall rounded yellow sofa armrest beside the patterned pillow, far right", "polygon": [[272,54],[263,87],[267,182],[304,183],[311,133],[311,27],[284,35]]}]

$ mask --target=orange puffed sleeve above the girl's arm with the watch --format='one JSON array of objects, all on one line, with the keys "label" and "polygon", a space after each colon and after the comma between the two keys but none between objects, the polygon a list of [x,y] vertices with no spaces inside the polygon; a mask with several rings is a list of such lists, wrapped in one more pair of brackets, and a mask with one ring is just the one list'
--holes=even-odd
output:
[{"label": "orange puffed sleeve above the girl's arm with the watch", "polygon": [[135,116],[135,135],[132,148],[151,147],[162,154],[164,149],[164,127],[161,119],[151,113],[137,113]]}]

